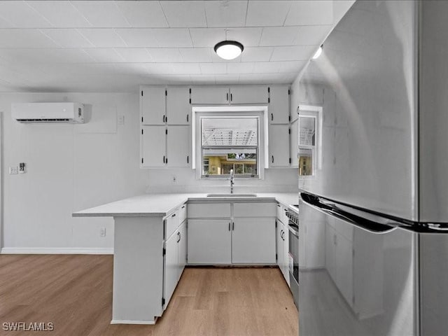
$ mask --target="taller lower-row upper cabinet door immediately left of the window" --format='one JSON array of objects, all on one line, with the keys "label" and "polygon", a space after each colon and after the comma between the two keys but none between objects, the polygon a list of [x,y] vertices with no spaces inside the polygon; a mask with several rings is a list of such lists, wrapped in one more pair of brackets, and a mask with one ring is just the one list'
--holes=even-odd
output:
[{"label": "taller lower-row upper cabinet door immediately left of the window", "polygon": [[167,166],[190,167],[190,126],[167,126]]}]

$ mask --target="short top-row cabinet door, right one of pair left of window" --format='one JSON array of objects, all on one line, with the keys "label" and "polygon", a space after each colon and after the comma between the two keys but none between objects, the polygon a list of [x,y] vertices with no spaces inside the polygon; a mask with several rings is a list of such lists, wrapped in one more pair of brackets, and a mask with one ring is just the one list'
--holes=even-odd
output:
[{"label": "short top-row cabinet door, right one of pair left of window", "polygon": [[167,89],[167,124],[190,125],[190,87],[169,86]]}]

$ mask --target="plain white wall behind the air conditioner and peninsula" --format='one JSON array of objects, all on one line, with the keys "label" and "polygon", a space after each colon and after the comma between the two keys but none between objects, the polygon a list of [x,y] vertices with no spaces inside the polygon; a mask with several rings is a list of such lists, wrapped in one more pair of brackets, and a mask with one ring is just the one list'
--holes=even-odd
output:
[{"label": "plain white wall behind the air conditioner and peninsula", "polygon": [[[81,102],[90,123],[20,124],[12,102]],[[3,252],[20,248],[82,251],[113,247],[112,218],[71,213],[144,193],[139,169],[139,97],[136,94],[0,94],[3,113]],[[125,116],[117,125],[117,116]],[[10,175],[9,166],[27,164]],[[106,237],[99,237],[101,227]],[[56,250],[55,250],[56,251]]]}]

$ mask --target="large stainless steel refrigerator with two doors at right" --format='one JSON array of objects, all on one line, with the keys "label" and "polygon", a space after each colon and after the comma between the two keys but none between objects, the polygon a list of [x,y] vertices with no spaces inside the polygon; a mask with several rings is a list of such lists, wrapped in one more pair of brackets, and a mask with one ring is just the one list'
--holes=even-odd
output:
[{"label": "large stainless steel refrigerator with two doors at right", "polygon": [[448,335],[447,18],[356,1],[300,78],[300,336]]}]

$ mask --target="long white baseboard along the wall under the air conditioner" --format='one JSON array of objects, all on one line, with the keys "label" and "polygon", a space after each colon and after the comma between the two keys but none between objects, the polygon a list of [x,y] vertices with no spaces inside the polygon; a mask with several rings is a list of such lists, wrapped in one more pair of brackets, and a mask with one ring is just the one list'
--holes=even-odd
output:
[{"label": "long white baseboard along the wall under the air conditioner", "polygon": [[113,247],[3,247],[1,254],[113,254]]}]

